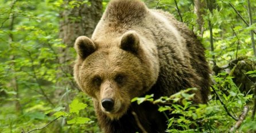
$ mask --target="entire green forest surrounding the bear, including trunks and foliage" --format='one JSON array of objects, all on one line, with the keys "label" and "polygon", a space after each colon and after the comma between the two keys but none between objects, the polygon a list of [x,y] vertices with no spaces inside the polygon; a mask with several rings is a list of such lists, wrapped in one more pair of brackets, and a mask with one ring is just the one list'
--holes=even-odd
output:
[{"label": "entire green forest surrounding the bear, including trunks and foliage", "polygon": [[[73,79],[73,45],[91,37],[108,2],[0,0],[0,132],[102,132],[91,97]],[[256,1],[143,2],[197,35],[212,69],[211,96],[196,108],[187,93],[194,88],[131,102],[181,114],[166,132],[256,132]]]}]

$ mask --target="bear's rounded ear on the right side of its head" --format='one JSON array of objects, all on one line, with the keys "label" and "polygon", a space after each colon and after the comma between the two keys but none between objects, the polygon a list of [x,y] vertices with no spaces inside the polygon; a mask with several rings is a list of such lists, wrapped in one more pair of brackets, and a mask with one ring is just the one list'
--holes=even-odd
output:
[{"label": "bear's rounded ear on the right side of its head", "polygon": [[137,54],[139,49],[139,37],[135,31],[123,34],[121,39],[121,49]]}]

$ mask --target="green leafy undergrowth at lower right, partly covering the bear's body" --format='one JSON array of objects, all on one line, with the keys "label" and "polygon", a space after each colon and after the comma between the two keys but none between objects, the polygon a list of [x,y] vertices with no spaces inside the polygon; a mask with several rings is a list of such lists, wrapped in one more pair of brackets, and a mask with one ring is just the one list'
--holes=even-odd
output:
[{"label": "green leafy undergrowth at lower right, partly covering the bear's body", "polygon": [[[232,88],[228,89],[226,94],[223,90],[218,89],[217,85],[214,85],[214,89],[216,89],[215,91],[220,97],[213,93],[212,99],[208,101],[208,105],[192,104],[191,100],[194,95],[188,92],[195,90],[195,88],[175,93],[169,97],[160,97],[160,99],[152,100],[152,96],[150,100],[147,100],[149,97],[136,97],[133,101],[137,101],[138,104],[146,100],[150,101],[153,104],[159,105],[158,111],[172,116],[168,118],[167,132],[227,132],[236,122],[227,115],[227,111],[238,117],[245,104],[252,99],[253,95],[245,96],[239,92],[231,77],[222,78],[221,76],[215,77],[215,80],[220,82],[217,85]],[[220,102],[219,98],[224,102],[224,105]],[[224,106],[227,107],[227,111],[224,109]],[[248,115],[250,116],[251,113]],[[255,132],[254,124],[255,121],[251,121],[248,118],[239,130],[242,132]]]}]

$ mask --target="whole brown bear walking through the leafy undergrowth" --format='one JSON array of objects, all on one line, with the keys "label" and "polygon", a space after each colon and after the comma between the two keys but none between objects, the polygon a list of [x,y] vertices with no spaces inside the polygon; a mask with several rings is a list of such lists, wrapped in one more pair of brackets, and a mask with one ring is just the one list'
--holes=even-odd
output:
[{"label": "whole brown bear walking through the leafy undergrowth", "polygon": [[92,38],[78,37],[75,49],[75,80],[92,97],[104,132],[165,132],[168,119],[158,106],[131,103],[134,97],[196,87],[193,102],[207,102],[210,69],[200,41],[172,15],[139,0],[110,1]]}]

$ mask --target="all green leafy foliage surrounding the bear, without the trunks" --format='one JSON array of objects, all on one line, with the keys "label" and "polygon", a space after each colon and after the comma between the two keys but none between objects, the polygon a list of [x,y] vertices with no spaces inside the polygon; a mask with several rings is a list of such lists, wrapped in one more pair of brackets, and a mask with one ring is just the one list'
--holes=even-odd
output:
[{"label": "all green leafy foliage surrounding the bear, without the trunks", "polygon": [[[103,9],[108,2],[102,2]],[[169,0],[145,2],[152,9],[169,11],[200,36],[200,30],[196,30],[199,21],[193,13],[193,1],[176,0],[177,6],[175,1]],[[60,49],[69,49],[59,38],[60,12],[84,3],[91,6],[90,1],[0,0],[0,3],[0,132],[29,131],[56,118],[59,119],[39,132],[100,132],[90,97],[63,85],[73,81],[72,75],[64,69],[73,60],[60,61],[64,56]],[[241,56],[256,60],[250,37],[250,30],[256,29],[256,2],[251,1],[254,20],[251,26],[242,21],[230,3],[249,22],[246,0],[216,0],[214,10],[202,9],[205,11],[201,20],[204,32],[200,39],[207,48],[210,65],[213,64],[213,55],[220,67]],[[208,20],[213,27],[214,52],[210,51]],[[74,50],[69,50],[75,58]],[[244,74],[256,77],[255,70]],[[219,73],[213,77],[216,81],[213,87],[227,111],[238,117],[245,104],[253,108],[253,95],[240,91],[239,85],[233,82],[234,78],[228,73]],[[227,132],[234,126],[235,120],[227,115],[213,90],[208,105],[193,105],[189,101],[193,95],[187,92],[155,100],[153,95],[136,97],[132,101],[138,104],[143,101],[161,103],[160,112],[178,114],[178,117],[169,118],[168,132]],[[238,132],[256,131],[255,120],[252,121],[250,115],[251,111]]]}]

